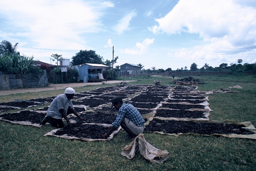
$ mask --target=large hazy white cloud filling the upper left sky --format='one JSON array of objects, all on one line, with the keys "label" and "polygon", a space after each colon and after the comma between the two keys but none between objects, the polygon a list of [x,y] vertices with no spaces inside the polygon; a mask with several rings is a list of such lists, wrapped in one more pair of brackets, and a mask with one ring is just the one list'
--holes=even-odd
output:
[{"label": "large hazy white cloud filling the upper left sky", "polygon": [[25,38],[32,47],[85,49],[86,39],[81,35],[101,31],[101,9],[113,5],[104,2],[100,6],[82,0],[1,1],[0,20],[4,19],[1,20],[4,23],[0,33],[4,32],[1,36],[9,40],[11,37]]}]

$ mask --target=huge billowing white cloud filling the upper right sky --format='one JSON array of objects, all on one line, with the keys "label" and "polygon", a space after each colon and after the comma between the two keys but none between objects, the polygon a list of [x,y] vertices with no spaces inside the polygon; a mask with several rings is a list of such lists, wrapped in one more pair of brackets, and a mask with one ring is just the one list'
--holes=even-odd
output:
[{"label": "huge billowing white cloud filling the upper right sky", "polygon": [[244,55],[245,60],[255,61],[255,6],[232,0],[180,0],[171,12],[156,21],[158,26],[148,28],[153,33],[198,33],[204,40],[200,47],[180,49],[175,57],[218,63],[237,61],[238,56]]}]

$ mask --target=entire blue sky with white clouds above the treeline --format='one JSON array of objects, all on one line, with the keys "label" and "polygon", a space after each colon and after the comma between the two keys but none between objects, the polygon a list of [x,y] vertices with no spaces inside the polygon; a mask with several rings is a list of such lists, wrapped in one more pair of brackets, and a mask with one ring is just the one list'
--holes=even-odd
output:
[{"label": "entire blue sky with white clouds above the treeline", "polygon": [[256,0],[0,0],[0,41],[55,64],[94,50],[116,65],[256,62]]}]

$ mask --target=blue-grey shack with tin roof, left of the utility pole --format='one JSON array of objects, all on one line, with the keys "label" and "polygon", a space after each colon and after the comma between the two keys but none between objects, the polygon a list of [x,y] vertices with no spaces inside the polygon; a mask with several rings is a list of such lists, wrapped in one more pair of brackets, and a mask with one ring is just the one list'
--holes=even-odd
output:
[{"label": "blue-grey shack with tin roof, left of the utility pole", "polygon": [[88,80],[99,79],[98,74],[102,74],[103,69],[107,69],[108,66],[95,63],[85,63],[82,65],[72,66],[72,69],[78,71],[78,81],[88,83]]}]

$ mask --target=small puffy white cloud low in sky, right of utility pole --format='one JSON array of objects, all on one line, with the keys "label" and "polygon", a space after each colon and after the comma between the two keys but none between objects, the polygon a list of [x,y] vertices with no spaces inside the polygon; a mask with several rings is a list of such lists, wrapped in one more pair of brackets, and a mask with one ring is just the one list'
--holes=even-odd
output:
[{"label": "small puffy white cloud low in sky, right of utility pole", "polygon": [[141,55],[147,53],[148,46],[154,43],[154,39],[145,39],[142,43],[136,43],[137,49],[125,49],[121,50],[121,53],[130,55]]}]

